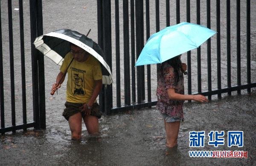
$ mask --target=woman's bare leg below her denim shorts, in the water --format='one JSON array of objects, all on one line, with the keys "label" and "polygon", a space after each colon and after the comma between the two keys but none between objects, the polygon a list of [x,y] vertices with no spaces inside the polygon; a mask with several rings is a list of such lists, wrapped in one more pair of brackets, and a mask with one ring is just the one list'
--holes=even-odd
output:
[{"label": "woman's bare leg below her denim shorts, in the water", "polygon": [[180,129],[180,121],[165,123],[166,124],[166,146],[173,148],[177,145],[177,138]]}]

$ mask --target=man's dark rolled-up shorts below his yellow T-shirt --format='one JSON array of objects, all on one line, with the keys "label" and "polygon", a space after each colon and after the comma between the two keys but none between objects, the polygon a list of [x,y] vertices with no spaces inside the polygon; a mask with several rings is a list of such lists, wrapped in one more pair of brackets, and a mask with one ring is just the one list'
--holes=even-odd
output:
[{"label": "man's dark rolled-up shorts below his yellow T-shirt", "polygon": [[[78,112],[81,112],[82,109],[79,109],[79,107],[83,106],[84,103],[71,103],[71,102],[66,102],[65,106],[66,108],[64,109],[64,112],[62,113],[62,116],[65,117],[66,120],[69,119],[70,116],[73,114],[76,114]],[[81,112],[82,117],[85,117],[85,112]],[[99,104],[98,103],[93,103],[90,115],[96,116],[98,118],[101,118],[102,112],[99,111]]]}]

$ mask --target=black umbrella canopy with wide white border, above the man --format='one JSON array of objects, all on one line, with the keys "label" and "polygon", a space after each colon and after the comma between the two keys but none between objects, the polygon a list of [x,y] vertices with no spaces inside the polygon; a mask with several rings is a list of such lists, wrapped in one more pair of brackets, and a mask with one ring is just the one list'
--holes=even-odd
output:
[{"label": "black umbrella canopy with wide white border, above the man", "polygon": [[45,56],[61,65],[65,55],[70,52],[70,43],[81,47],[99,60],[102,66],[103,84],[113,83],[111,69],[105,61],[105,54],[97,43],[84,34],[70,29],[59,29],[37,37],[34,45]]}]

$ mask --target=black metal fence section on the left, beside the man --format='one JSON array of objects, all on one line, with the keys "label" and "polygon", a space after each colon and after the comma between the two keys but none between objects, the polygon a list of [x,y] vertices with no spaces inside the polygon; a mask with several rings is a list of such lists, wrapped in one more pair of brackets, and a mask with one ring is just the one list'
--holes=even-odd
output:
[{"label": "black metal fence section on the left, beside the man", "polygon": [[[2,2],[2,1],[1,1]],[[0,2],[0,10],[1,10]],[[24,52],[24,29],[23,29],[23,0],[18,1],[19,5],[19,23],[20,23],[20,62],[21,62],[21,84],[22,84],[22,117],[23,124],[16,124],[16,109],[15,109],[15,69],[14,61],[14,39],[13,39],[13,17],[12,17],[12,0],[8,0],[8,23],[9,23],[9,71],[10,71],[10,94],[4,95],[4,81],[9,78],[4,77],[6,73],[3,73],[3,58],[8,57],[8,54],[3,56],[3,41],[2,39],[2,23],[1,23],[1,12],[0,12],[0,121],[1,128],[0,133],[12,131],[15,133],[16,130],[23,129],[26,131],[27,128],[34,127],[35,129],[45,129],[45,92],[44,92],[44,58],[38,56],[39,52],[35,50],[35,46],[32,44],[37,36],[43,34],[43,20],[42,20],[42,1],[41,0],[30,0],[29,11],[30,11],[30,32],[31,41],[25,41],[31,43],[31,65],[32,65],[32,95],[33,95],[33,122],[27,122],[27,108],[26,108],[26,75],[25,75],[25,52]],[[15,1],[17,3],[17,1]],[[3,4],[2,4],[3,5]],[[17,39],[15,39],[17,40]],[[8,40],[7,40],[8,41]],[[5,87],[6,88],[6,87]],[[11,103],[4,103],[6,97],[11,96]],[[12,126],[6,126],[5,104],[11,104],[11,119]]]}]

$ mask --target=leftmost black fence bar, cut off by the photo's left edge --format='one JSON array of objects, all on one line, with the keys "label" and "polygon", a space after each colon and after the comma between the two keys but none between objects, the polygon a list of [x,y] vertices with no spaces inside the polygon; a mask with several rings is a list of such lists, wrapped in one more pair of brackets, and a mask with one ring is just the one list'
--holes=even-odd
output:
[{"label": "leftmost black fence bar, cut off by the photo's left edge", "polygon": [[[0,85],[3,85],[3,45],[2,45],[2,21],[1,20],[2,18],[1,18],[1,2],[0,2]],[[1,128],[4,128],[5,123],[4,123],[3,86],[0,86],[0,120],[1,120]]]}]

